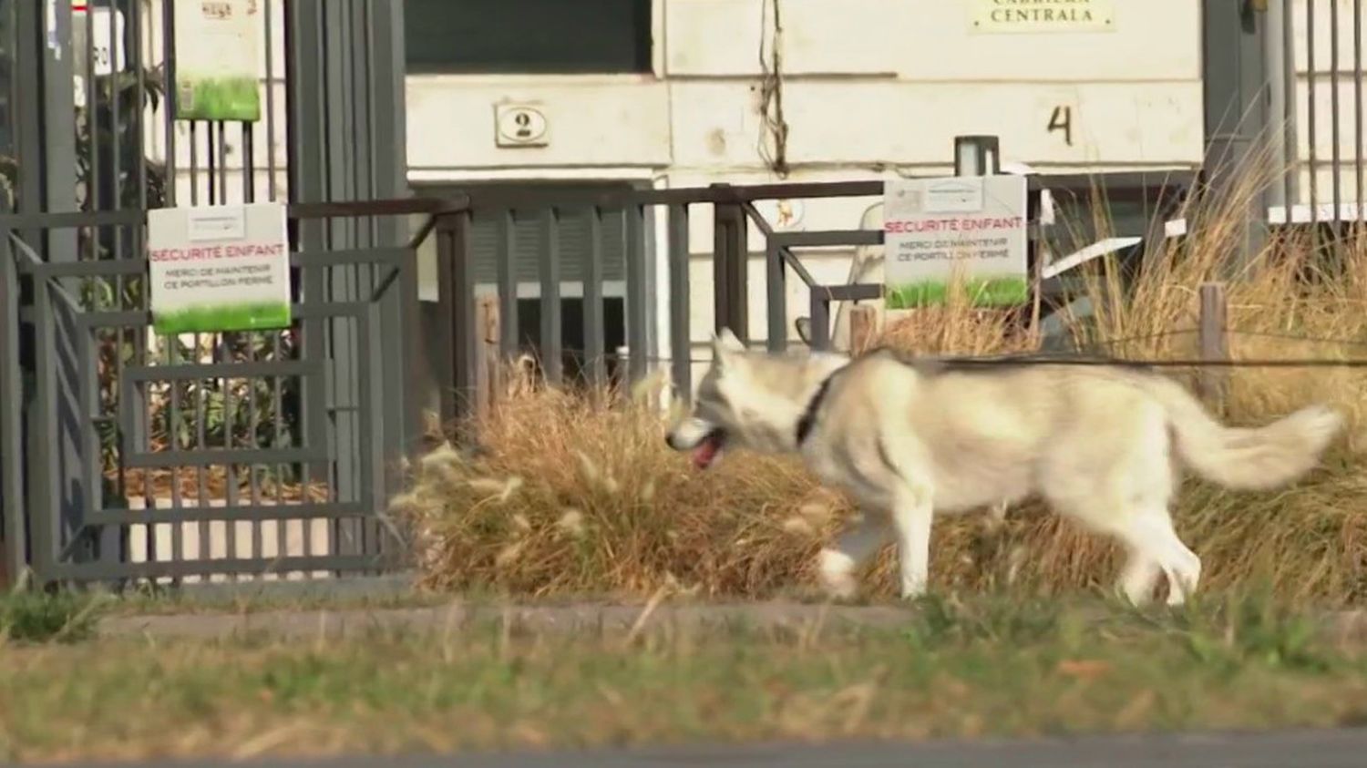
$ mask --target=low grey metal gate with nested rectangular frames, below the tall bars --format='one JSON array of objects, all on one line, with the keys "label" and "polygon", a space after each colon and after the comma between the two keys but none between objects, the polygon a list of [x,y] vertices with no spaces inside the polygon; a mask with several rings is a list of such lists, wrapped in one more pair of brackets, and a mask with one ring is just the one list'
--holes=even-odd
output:
[{"label": "low grey metal gate with nested rectangular frames, below the tall bars", "polygon": [[[427,201],[299,206],[294,221],[398,216]],[[383,515],[396,456],[384,447],[385,372],[411,358],[411,329],[383,335],[390,292],[411,295],[410,247],[291,253],[312,272],[364,272],[361,299],[297,301],[293,332],[232,332],[185,359],[149,338],[148,264],[44,260],[19,232],[139,228],[141,212],[0,217],[0,418],[8,555],[42,581],[380,571],[402,563]],[[347,347],[309,354],[309,321],[344,323]],[[313,325],[323,332],[332,327]],[[31,339],[33,365],[19,359]],[[334,376],[353,361],[353,381]],[[21,372],[31,377],[25,381]],[[288,400],[320,398],[335,426],[316,440]],[[346,477],[343,477],[346,473]],[[23,532],[29,547],[25,551]]]}]

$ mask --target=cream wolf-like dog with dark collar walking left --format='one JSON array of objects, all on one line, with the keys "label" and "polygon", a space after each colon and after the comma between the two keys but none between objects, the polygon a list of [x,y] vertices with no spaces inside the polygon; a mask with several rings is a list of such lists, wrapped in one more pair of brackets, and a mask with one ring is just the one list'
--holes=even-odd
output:
[{"label": "cream wolf-like dog with dark collar walking left", "polygon": [[856,592],[856,570],[889,540],[901,594],[920,596],[935,515],[1039,496],[1124,545],[1117,586],[1132,603],[1166,577],[1167,601],[1180,604],[1202,573],[1169,514],[1180,466],[1226,488],[1271,489],[1311,470],[1342,426],[1318,404],[1226,426],[1177,381],[1122,364],[778,355],[746,350],[730,331],[712,347],[667,443],[700,469],[734,448],[796,452],[850,493],[864,514],[819,562],[835,597]]}]

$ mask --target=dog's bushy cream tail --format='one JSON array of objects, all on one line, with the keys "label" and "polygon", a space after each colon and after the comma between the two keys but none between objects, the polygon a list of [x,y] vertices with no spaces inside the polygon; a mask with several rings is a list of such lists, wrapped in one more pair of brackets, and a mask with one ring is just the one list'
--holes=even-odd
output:
[{"label": "dog's bushy cream tail", "polygon": [[1264,426],[1225,426],[1176,381],[1154,380],[1150,391],[1167,411],[1178,458],[1240,491],[1266,491],[1310,471],[1344,424],[1333,409],[1310,406]]}]

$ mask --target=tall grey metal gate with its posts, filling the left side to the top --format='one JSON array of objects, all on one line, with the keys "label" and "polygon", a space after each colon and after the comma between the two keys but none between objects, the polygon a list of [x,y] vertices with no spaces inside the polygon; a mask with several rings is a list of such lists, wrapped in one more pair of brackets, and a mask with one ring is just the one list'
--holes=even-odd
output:
[{"label": "tall grey metal gate with its posts, filling the left side to the top", "polygon": [[[402,3],[232,0],[256,122],[176,118],[171,0],[0,0],[0,571],[193,581],[402,566],[418,424]],[[198,5],[198,4],[195,4]],[[12,167],[11,167],[12,165]],[[346,201],[384,201],[357,204]],[[146,212],[290,204],[294,323],[149,327]]]}]

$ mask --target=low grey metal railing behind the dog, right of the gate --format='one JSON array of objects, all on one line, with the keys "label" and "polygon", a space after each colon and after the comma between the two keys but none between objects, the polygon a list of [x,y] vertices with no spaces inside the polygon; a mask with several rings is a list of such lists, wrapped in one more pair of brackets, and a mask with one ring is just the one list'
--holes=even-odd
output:
[{"label": "low grey metal railing behind the dog, right of the gate", "polygon": [[[1195,183],[1189,172],[1126,172],[1110,175],[1039,175],[1029,178],[1032,220],[1038,219],[1040,191],[1048,189],[1055,206],[1077,221],[1094,221],[1089,212],[1094,205],[1105,206],[1115,228],[1110,234],[1137,238],[1163,236],[1162,224],[1169,215],[1180,208],[1185,194]],[[882,286],[830,286],[822,284],[804,268],[796,249],[813,246],[860,246],[880,245],[883,232],[876,230],[852,231],[804,231],[776,232],[756,208],[766,200],[838,198],[838,197],[880,197],[883,182],[830,182],[830,183],[779,183],[755,186],[714,184],[709,187],[668,189],[668,190],[612,190],[597,194],[566,194],[554,187],[540,190],[468,189],[461,200],[452,200],[458,212],[444,216],[437,223],[437,256],[443,340],[446,351],[439,361],[437,380],[442,383],[442,415],[447,422],[469,417],[481,395],[478,387],[480,354],[483,343],[478,339],[476,306],[480,291],[498,297],[500,310],[499,354],[511,358],[519,354],[533,354],[539,361],[540,374],[552,384],[574,383],[573,379],[589,385],[603,385],[610,381],[610,372],[625,364],[621,379],[636,381],[659,366],[667,366],[670,380],[678,395],[692,394],[693,364],[692,350],[697,339],[692,335],[693,286],[690,277],[689,216],[696,209],[709,209],[714,227],[711,249],[712,298],[715,328],[730,328],[741,339],[749,339],[749,284],[752,279],[763,279],[767,295],[767,339],[771,350],[785,350],[798,342],[787,313],[786,283],[796,275],[811,297],[811,321],[813,346],[824,346],[830,305],[839,301],[865,301],[882,298]],[[563,295],[560,291],[560,268],[567,256],[562,246],[562,219],[569,210],[588,210],[589,236],[580,241],[586,253],[573,254],[585,265],[582,279],[582,317],[580,338],[567,344],[565,329]],[[655,258],[651,253],[655,217],[663,215],[667,246],[664,262],[666,275],[655,275]],[[540,284],[534,302],[539,309],[539,327],[519,327],[519,276],[526,269],[518,262],[525,243],[517,242],[514,221],[540,221],[536,238],[534,275]],[[611,228],[619,242],[608,243],[603,225],[607,219],[621,223]],[[500,236],[493,246],[493,284],[480,284],[472,231],[480,221],[492,221]],[[749,227],[753,224],[763,243],[749,242]],[[1074,246],[1059,238],[1080,235],[1089,238],[1092,232],[1055,232],[1053,249]],[[1032,239],[1042,241],[1039,227],[1032,227]],[[1089,243],[1085,239],[1084,243]],[[626,254],[625,273],[625,336],[626,359],[614,359],[614,351],[606,343],[603,253],[608,246],[619,246]],[[1139,247],[1137,250],[1141,250]],[[1136,253],[1137,253],[1136,250]],[[1033,253],[1033,250],[1032,250]],[[1068,253],[1064,250],[1064,253]],[[763,257],[763,276],[749,273],[752,257]],[[487,279],[487,277],[485,277]],[[656,282],[667,280],[668,305],[655,306],[652,297]],[[1064,280],[1047,280],[1043,290],[1050,298],[1066,294]],[[652,343],[651,328],[653,317],[667,317],[668,357],[659,354],[660,344]],[[571,366],[571,373],[566,369]]]}]

